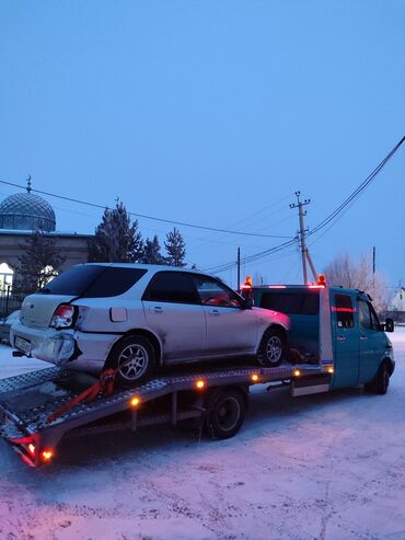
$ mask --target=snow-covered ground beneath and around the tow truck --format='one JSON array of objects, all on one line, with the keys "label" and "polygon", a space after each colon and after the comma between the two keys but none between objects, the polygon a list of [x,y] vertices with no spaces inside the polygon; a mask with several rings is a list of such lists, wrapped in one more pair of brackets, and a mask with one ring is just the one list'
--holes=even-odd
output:
[{"label": "snow-covered ground beneath and around the tow truck", "polygon": [[[0,539],[405,539],[405,330],[392,341],[386,395],[256,387],[230,440],[83,437],[38,470],[1,441]],[[30,365],[1,348],[1,377]]]}]

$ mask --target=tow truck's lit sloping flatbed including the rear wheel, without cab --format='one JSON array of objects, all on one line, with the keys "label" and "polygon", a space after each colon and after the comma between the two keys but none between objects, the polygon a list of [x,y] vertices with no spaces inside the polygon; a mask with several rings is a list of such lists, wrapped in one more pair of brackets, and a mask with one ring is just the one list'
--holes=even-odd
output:
[{"label": "tow truck's lit sloping flatbed including the rear wheel, without cab", "polygon": [[[228,438],[241,427],[248,388],[257,383],[302,383],[325,391],[328,375],[317,366],[227,366],[210,370],[166,375],[131,389],[117,389],[68,406],[99,379],[58,367],[0,380],[0,435],[23,460],[39,467],[53,459],[58,443],[83,432],[131,429],[195,418],[210,428],[213,438]],[[317,388],[316,388],[317,387]],[[61,411],[55,415],[55,412]]]}]

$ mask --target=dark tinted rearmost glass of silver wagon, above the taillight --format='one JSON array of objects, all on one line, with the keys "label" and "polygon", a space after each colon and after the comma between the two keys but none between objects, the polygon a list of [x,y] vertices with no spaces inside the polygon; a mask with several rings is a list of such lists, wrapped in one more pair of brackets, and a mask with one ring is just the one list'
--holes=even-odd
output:
[{"label": "dark tinted rearmost glass of silver wagon, above the taillight", "polygon": [[72,266],[49,282],[38,292],[81,298],[119,296],[130,289],[146,272],[143,268],[123,268],[119,266]]}]

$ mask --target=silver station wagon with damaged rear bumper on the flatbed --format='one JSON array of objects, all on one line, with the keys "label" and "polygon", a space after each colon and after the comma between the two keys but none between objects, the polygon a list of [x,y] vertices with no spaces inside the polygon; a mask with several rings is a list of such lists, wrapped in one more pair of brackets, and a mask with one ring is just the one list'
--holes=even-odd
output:
[{"label": "silver station wagon with damaged rear bumper on the flatbed", "polygon": [[253,308],[220,279],[141,264],[72,266],[24,299],[11,326],[16,349],[137,382],[170,364],[256,356],[278,366],[289,318]]}]

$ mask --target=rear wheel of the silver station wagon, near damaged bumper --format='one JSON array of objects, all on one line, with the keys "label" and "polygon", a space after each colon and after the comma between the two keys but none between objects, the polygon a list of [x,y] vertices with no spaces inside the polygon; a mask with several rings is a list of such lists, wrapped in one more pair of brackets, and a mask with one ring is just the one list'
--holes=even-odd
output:
[{"label": "rear wheel of the silver station wagon, near damaged bumper", "polygon": [[113,347],[105,367],[117,369],[115,380],[118,383],[134,386],[151,375],[154,363],[154,349],[150,341],[142,335],[129,335]]}]

